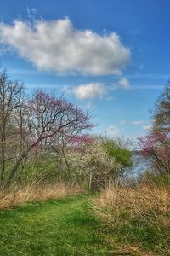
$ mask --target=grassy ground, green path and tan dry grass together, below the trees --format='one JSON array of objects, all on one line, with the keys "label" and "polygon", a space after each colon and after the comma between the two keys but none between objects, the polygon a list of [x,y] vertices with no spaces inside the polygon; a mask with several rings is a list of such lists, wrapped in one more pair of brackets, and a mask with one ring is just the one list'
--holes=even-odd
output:
[{"label": "grassy ground, green path and tan dry grass together, below the trees", "polygon": [[3,206],[1,255],[170,254],[168,187],[53,189]]}]

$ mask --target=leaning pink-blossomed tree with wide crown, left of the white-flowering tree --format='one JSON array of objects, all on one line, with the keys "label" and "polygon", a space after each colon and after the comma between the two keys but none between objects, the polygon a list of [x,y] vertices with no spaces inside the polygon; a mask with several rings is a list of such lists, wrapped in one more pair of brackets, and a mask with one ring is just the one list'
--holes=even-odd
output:
[{"label": "leaning pink-blossomed tree with wide crown, left of the white-flowering tree", "polygon": [[56,98],[48,92],[37,90],[31,99],[25,102],[25,126],[22,129],[24,147],[9,172],[6,185],[12,181],[21,163],[33,149],[40,151],[50,148],[51,145],[57,148],[59,141],[69,143],[72,137],[77,137],[82,131],[94,127],[91,118],[90,113],[84,113],[63,97]]}]

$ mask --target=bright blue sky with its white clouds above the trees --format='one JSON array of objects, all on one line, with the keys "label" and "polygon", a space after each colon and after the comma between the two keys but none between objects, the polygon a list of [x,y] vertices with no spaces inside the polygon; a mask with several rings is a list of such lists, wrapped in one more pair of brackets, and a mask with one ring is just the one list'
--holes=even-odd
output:
[{"label": "bright blue sky with its white clouds above the trees", "polygon": [[144,135],[170,75],[168,0],[0,3],[0,60],[12,79],[89,109],[94,132]]}]

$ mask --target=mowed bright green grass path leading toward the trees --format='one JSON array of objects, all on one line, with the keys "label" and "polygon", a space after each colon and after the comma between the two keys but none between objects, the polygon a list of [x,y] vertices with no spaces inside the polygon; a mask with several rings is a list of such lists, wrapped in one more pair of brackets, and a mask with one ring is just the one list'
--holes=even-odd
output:
[{"label": "mowed bright green grass path leading toward the trees", "polygon": [[90,200],[77,195],[0,211],[0,255],[112,255]]}]

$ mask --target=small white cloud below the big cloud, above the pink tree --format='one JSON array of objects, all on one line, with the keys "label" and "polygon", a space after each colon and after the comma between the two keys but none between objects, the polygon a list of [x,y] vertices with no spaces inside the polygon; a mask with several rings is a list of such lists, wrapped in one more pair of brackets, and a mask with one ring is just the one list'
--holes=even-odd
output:
[{"label": "small white cloud below the big cloud, above the pink tree", "polygon": [[91,84],[81,84],[70,88],[66,86],[64,88],[66,93],[71,93],[80,100],[89,100],[94,98],[102,99],[107,93],[107,87],[104,83],[91,83]]}]

